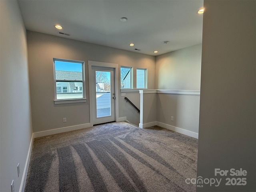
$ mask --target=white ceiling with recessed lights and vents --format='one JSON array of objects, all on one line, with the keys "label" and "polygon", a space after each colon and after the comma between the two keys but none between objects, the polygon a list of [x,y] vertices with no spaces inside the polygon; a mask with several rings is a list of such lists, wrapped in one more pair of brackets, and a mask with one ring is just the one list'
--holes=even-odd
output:
[{"label": "white ceiling with recessed lights and vents", "polygon": [[[197,10],[203,7],[203,0],[18,2],[26,29],[31,31],[154,56],[202,42],[203,16]],[[121,17],[128,20],[121,22]],[[63,29],[57,30],[55,24]],[[59,31],[70,36],[58,34]],[[164,41],[169,42],[163,44]],[[130,43],[135,45],[131,47]]]}]

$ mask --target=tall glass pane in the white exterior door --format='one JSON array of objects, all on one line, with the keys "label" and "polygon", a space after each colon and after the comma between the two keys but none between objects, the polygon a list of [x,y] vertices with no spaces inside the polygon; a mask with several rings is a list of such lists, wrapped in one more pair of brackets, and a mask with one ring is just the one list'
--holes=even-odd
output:
[{"label": "tall glass pane in the white exterior door", "polygon": [[96,76],[96,117],[111,116],[110,72],[95,71]]}]

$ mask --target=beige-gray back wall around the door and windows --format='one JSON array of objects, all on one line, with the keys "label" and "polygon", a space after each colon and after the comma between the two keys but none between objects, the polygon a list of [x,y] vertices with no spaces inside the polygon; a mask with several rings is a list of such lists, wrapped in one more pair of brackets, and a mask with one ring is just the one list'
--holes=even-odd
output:
[{"label": "beige-gray back wall around the door and windows", "polygon": [[[119,50],[31,31],[27,32],[27,38],[32,123],[34,132],[86,124],[90,122],[88,60],[116,63],[119,64],[119,67],[131,66],[135,68],[135,71],[136,67],[147,68],[148,88],[154,89],[154,56],[148,56],[145,54]],[[81,60],[85,62],[87,102],[54,105],[52,58]],[[134,75],[136,75],[136,73]],[[136,80],[136,78],[134,78],[134,80]],[[120,87],[120,79],[118,80],[118,86]],[[136,87],[136,82],[134,86]],[[133,118],[130,115],[131,108],[125,107],[124,97],[121,97],[120,92],[118,94],[120,98],[119,117],[127,116],[130,122],[136,122],[136,118]],[[129,95],[130,94],[132,93],[129,93]],[[138,95],[138,93],[134,94]],[[136,100],[139,102],[140,97],[138,96]],[[63,117],[67,118],[66,123],[62,122]]]}]

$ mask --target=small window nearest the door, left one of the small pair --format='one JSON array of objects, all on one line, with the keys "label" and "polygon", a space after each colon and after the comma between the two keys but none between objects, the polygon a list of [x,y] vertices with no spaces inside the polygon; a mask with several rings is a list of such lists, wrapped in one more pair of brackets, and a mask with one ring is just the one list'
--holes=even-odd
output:
[{"label": "small window nearest the door, left one of the small pair", "polygon": [[120,69],[121,88],[132,89],[132,68],[122,66]]}]

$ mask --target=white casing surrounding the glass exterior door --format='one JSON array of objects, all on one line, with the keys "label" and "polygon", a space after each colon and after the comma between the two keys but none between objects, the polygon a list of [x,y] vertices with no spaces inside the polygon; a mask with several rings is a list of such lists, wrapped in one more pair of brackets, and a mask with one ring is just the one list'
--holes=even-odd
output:
[{"label": "white casing surrounding the glass exterior door", "polygon": [[92,104],[92,86],[95,86],[92,81],[92,66],[98,66],[98,67],[109,67],[109,68],[114,68],[114,84],[115,84],[115,121],[122,121],[123,119],[119,119],[119,108],[118,108],[118,88],[119,88],[119,83],[118,83],[118,64],[114,63],[106,63],[106,62],[98,62],[98,61],[88,61],[88,75],[89,75],[89,101],[90,101],[90,126],[93,126],[93,104]]}]

